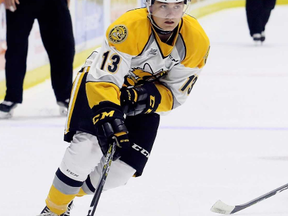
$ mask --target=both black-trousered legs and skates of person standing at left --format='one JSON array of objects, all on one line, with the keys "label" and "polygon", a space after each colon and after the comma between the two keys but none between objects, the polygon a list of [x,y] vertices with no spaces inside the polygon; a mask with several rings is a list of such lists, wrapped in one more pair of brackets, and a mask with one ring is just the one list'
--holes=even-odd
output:
[{"label": "both black-trousered legs and skates of person standing at left", "polygon": [[11,118],[17,104],[22,103],[28,37],[35,19],[38,20],[41,38],[49,57],[51,82],[60,113],[67,114],[75,54],[69,1],[4,0],[7,22],[7,89],[4,101],[0,104],[0,119]]}]

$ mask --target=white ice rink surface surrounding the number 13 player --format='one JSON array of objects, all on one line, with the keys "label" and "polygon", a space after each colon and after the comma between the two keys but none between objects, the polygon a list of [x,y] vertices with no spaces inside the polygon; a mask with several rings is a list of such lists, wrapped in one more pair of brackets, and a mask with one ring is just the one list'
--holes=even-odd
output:
[{"label": "white ice rink surface surrounding the number 13 player", "polygon": [[[141,178],[102,194],[95,216],[212,216],[288,183],[288,6],[254,46],[244,8],[199,19],[211,52],[189,100],[162,118]],[[68,146],[50,81],[0,121],[0,216],[36,216]],[[75,199],[86,216],[91,196]],[[287,216],[288,190],[236,215]]]}]

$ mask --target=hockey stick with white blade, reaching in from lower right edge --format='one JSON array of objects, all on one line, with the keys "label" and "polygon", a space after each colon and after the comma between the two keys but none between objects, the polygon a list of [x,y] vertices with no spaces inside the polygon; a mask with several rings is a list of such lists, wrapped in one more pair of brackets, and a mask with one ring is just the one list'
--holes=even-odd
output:
[{"label": "hockey stick with white blade, reaching in from lower right edge", "polygon": [[212,212],[216,212],[216,213],[219,213],[219,214],[234,214],[238,211],[241,211],[245,208],[248,208],[249,206],[251,205],[254,205],[258,202],[261,202],[262,200],[265,200],[271,196],[274,196],[276,195],[277,193],[280,193],[284,190],[287,190],[288,189],[288,184],[285,184],[279,188],[276,188],[260,197],[257,197],[247,203],[244,203],[242,205],[236,205],[236,206],[230,206],[230,205],[227,205],[225,203],[223,203],[221,200],[218,200],[213,206],[212,208],[210,209]]}]

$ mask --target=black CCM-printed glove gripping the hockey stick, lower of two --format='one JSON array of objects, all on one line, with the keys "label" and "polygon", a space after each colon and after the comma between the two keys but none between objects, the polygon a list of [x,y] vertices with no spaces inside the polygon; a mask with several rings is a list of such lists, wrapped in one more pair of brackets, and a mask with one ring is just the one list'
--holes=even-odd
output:
[{"label": "black CCM-printed glove gripping the hockey stick, lower of two", "polygon": [[96,136],[103,154],[106,155],[109,144],[113,142],[112,137],[115,137],[117,147],[113,160],[120,158],[130,148],[128,130],[124,124],[121,107],[111,102],[101,102],[93,107],[92,112]]}]

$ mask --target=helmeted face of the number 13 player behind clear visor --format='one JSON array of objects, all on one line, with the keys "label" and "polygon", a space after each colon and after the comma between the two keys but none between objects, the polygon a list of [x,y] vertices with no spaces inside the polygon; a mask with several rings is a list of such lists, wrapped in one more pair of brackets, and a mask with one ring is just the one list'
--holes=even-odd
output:
[{"label": "helmeted face of the number 13 player behind clear visor", "polygon": [[184,2],[163,3],[155,1],[150,8],[154,22],[165,31],[172,31],[185,11]]}]

